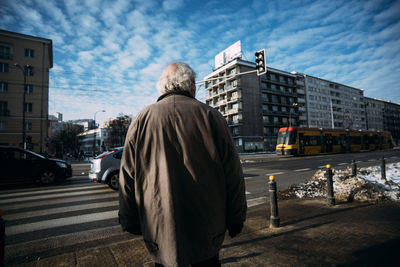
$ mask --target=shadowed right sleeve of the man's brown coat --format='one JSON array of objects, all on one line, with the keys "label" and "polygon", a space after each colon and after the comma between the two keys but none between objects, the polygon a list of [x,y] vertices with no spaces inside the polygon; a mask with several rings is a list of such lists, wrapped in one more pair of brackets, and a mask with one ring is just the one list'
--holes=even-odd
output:
[{"label": "shadowed right sleeve of the man's brown coat", "polygon": [[242,165],[224,118],[219,127],[221,160],[226,179],[227,226],[242,224],[246,220],[247,201]]}]

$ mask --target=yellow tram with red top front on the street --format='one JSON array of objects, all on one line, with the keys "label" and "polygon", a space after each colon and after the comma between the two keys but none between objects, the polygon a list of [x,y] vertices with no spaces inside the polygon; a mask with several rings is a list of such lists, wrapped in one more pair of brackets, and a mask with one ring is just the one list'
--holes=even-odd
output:
[{"label": "yellow tram with red top front on the street", "polygon": [[317,155],[393,147],[390,132],[284,127],[279,129],[278,155]]}]

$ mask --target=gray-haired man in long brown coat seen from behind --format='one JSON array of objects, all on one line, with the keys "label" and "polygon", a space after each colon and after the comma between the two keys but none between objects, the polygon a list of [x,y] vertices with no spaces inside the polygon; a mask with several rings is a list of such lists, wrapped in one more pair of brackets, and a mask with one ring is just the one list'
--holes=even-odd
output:
[{"label": "gray-haired man in long brown coat seen from behind", "polygon": [[163,71],[157,103],[132,121],[120,170],[119,220],[156,266],[220,266],[226,229],[246,217],[242,168],[225,119],[195,97],[185,63]]}]

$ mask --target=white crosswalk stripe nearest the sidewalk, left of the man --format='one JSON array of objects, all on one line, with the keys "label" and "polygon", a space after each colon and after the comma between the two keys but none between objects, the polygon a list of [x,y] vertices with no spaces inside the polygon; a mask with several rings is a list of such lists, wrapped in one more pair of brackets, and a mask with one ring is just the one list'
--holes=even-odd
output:
[{"label": "white crosswalk stripe nearest the sidewalk, left of the man", "polygon": [[33,231],[49,229],[49,228],[55,228],[55,227],[61,227],[61,226],[67,226],[67,225],[73,225],[73,224],[88,223],[88,222],[94,222],[94,221],[103,221],[103,220],[113,219],[113,218],[118,218],[118,210],[9,226],[9,227],[6,227],[6,236],[22,234],[22,233],[26,233],[26,232],[33,232]]}]

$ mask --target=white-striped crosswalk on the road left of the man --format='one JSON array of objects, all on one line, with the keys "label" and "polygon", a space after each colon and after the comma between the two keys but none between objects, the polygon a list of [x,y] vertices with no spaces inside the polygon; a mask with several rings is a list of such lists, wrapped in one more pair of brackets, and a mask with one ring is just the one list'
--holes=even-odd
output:
[{"label": "white-striped crosswalk on the road left of the man", "polygon": [[6,265],[140,238],[122,232],[118,193],[79,183],[0,191]]}]

